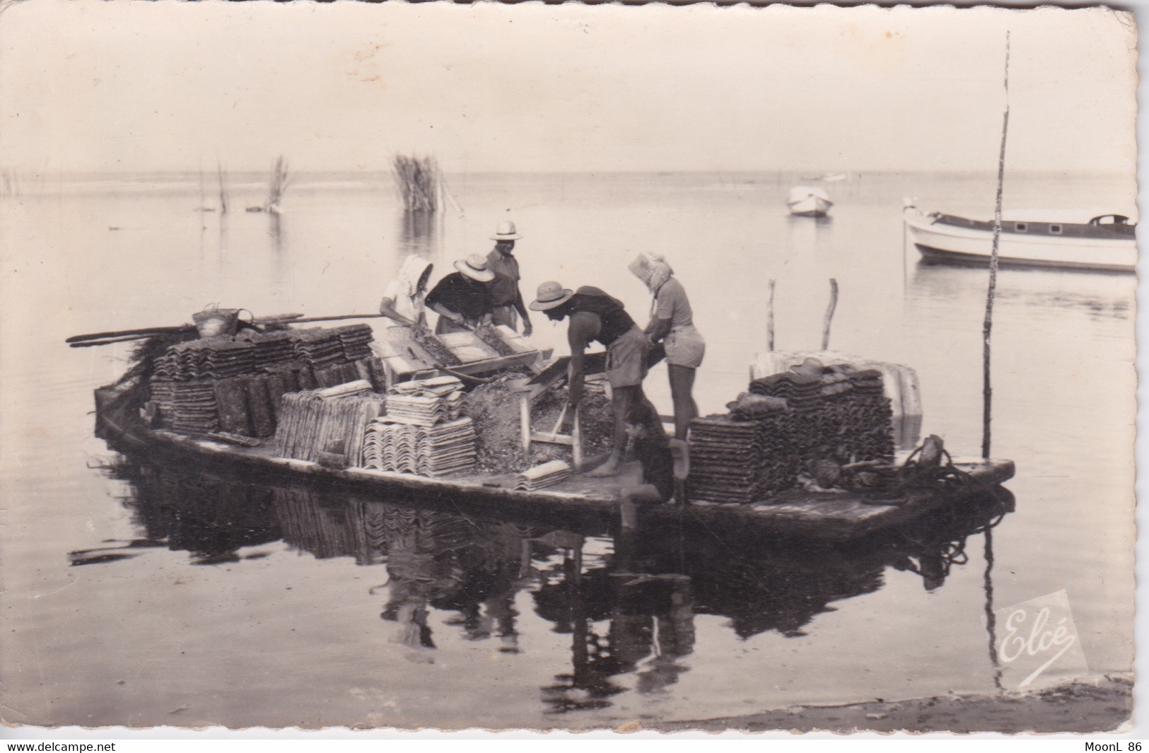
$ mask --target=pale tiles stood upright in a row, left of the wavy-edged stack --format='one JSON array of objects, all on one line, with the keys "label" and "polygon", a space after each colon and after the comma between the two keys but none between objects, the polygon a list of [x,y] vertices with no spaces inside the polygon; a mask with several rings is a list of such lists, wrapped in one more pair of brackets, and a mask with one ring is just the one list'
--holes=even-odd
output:
[{"label": "pale tiles stood upright in a row, left of the wavy-edged stack", "polygon": [[342,455],[347,466],[362,467],[368,427],[383,413],[386,397],[375,392],[324,397],[323,392],[283,395],[276,454],[316,462],[319,453],[329,453]]}]

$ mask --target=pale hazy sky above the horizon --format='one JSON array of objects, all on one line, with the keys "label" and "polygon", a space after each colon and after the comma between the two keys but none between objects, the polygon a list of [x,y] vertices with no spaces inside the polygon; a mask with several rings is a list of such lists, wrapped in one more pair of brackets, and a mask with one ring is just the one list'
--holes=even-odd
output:
[{"label": "pale hazy sky above the horizon", "polygon": [[26,0],[0,168],[1132,170],[1104,9]]}]

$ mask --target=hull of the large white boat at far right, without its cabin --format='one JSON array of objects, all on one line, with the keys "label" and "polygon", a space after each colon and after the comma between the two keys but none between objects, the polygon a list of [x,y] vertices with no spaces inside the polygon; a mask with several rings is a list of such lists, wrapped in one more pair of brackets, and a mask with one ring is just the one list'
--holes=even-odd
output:
[{"label": "hull of the large white boat at far right, without its cabin", "polygon": [[[916,210],[907,213],[905,224],[913,245],[926,262],[989,263],[993,251],[993,232],[989,230],[938,222]],[[1010,267],[1132,272],[1136,270],[1136,261],[1135,238],[1002,232],[997,241],[997,262]]]}]

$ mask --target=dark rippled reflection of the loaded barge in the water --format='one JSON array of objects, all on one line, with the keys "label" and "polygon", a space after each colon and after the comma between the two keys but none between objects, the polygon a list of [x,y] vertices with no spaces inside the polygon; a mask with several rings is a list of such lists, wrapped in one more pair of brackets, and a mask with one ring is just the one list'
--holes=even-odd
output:
[{"label": "dark rippled reflection of the loaded barge in the water", "polygon": [[[689,535],[688,515],[647,517],[635,535],[594,521],[562,529],[512,514],[464,517],[132,458],[113,475],[129,484],[125,504],[145,540],[187,551],[193,562],[207,551],[239,559],[244,547],[280,535],[316,559],[385,569],[385,585],[370,592],[383,599],[392,643],[415,663],[441,651],[435,633],[444,630],[518,653],[527,629],[518,596],[529,593],[534,615],[570,636],[570,669],[541,687],[553,713],[610,706],[627,685],[665,691],[689,671],[697,615],[727,618],[741,639],[771,631],[801,638],[841,602],[880,590],[890,570],[919,576],[927,591],[943,587],[966,563],[970,537],[1015,505],[997,489],[850,543],[764,545],[745,528]],[[619,682],[624,675],[635,682]]]}]

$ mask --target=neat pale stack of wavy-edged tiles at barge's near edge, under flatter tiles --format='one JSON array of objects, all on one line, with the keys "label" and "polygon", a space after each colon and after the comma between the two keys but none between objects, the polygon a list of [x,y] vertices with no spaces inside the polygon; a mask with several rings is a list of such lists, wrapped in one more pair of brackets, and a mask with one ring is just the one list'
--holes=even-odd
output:
[{"label": "neat pale stack of wavy-edged tiles at barge's near edge, under flatter tiles", "polygon": [[363,464],[377,470],[419,476],[447,476],[475,466],[475,425],[469,417],[435,425],[398,422],[387,416],[372,422],[363,443]]}]

